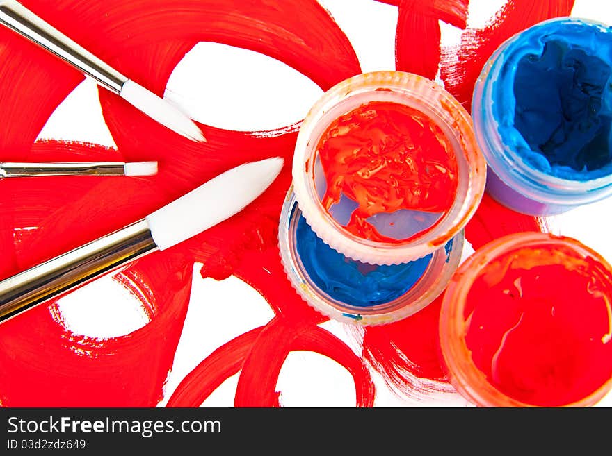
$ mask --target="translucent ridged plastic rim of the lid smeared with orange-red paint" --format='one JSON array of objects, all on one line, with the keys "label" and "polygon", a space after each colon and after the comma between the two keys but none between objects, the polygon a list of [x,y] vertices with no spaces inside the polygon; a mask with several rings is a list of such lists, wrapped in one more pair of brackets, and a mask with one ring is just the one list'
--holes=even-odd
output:
[{"label": "translucent ridged plastic rim of the lid smeared with orange-red paint", "polygon": [[[435,223],[416,229],[410,237],[398,242],[376,242],[354,235],[345,228],[346,223],[343,225],[338,218],[332,217],[321,203],[323,171],[317,149],[323,133],[340,116],[373,101],[398,103],[422,113],[444,133],[457,162],[457,189],[451,208]],[[458,235],[478,208],[485,180],[486,163],[476,146],[472,120],[467,111],[434,81],[401,71],[360,74],[325,92],[300,128],[293,158],[296,199],[314,232],[347,257],[371,264],[405,263],[444,247]],[[421,214],[424,218],[428,215],[425,212]],[[420,216],[410,214],[408,219],[402,213],[390,214],[389,217],[396,217],[393,222],[397,223],[387,225],[412,229],[410,224],[414,226],[414,220]]]}]

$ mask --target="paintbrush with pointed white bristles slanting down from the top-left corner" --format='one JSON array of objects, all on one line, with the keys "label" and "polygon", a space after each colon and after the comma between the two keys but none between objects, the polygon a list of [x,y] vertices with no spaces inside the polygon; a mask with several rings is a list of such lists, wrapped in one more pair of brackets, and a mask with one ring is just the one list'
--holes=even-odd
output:
[{"label": "paintbrush with pointed white bristles slanting down from the top-left corner", "polygon": [[15,0],[0,0],[0,23],[58,56],[147,116],[193,141],[206,141],[183,112],[138,85]]}]

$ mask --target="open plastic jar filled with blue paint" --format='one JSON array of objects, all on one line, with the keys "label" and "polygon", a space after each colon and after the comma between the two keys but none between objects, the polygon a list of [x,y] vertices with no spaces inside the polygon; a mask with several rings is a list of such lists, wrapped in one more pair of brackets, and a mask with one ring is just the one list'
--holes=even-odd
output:
[{"label": "open plastic jar filled with blue paint", "polygon": [[562,17],[504,42],[472,100],[488,194],[536,216],[612,194],[611,83],[610,27]]}]

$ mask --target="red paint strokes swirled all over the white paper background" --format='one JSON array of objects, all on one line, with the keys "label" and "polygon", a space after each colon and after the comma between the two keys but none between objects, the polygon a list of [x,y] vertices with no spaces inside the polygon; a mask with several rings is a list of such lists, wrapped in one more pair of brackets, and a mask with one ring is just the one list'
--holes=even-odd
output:
[{"label": "red paint strokes swirled all over the white paper background", "polygon": [[[323,90],[360,73],[346,36],[314,0],[168,0],[163,7],[152,0],[22,3],[160,95],[172,69],[200,41],[221,42],[277,58],[312,78]],[[401,1],[398,67],[431,77],[440,61],[437,19],[462,26],[466,3]],[[476,74],[496,44],[537,20],[569,13],[572,3],[509,1],[483,31],[466,31],[462,47],[442,54],[442,78],[451,92],[467,103]],[[409,32],[411,21],[420,24],[414,28],[418,33]],[[100,36],[104,40],[99,40]],[[433,44],[428,38],[426,51],[415,57],[411,49],[417,51],[426,36],[433,36]],[[449,58],[451,53],[459,56],[458,62]],[[101,146],[35,144],[56,106],[83,80],[81,74],[5,29],[0,30],[0,60],[3,160],[110,158],[111,151]],[[410,67],[415,61],[420,66]],[[100,90],[99,96],[106,124],[118,145],[118,151],[113,152],[116,158],[158,160],[159,174],[137,180],[6,180],[0,201],[0,277],[135,221],[242,162],[277,155],[291,162],[298,124],[266,135],[202,126],[209,142],[193,144],[119,97],[105,90]],[[280,405],[275,391],[277,375],[292,350],[312,350],[337,360],[353,375],[357,405],[373,405],[374,389],[364,360],[316,326],[325,318],[293,292],[280,266],[276,225],[289,181],[285,169],[268,192],[230,221],[122,271],[118,280],[131,284],[150,314],[150,323],[143,328],[111,339],[77,336],[62,326],[54,303],[1,325],[0,404],[156,405],[182,330],[191,266],[198,261],[205,264],[203,276],[225,278],[234,273],[250,283],[266,297],[277,316],[264,328],[252,330],[210,355],[186,377],[170,405],[201,403],[216,385],[237,371],[241,374],[236,405]],[[481,208],[468,226],[472,244],[485,242],[497,230],[487,223],[490,210],[488,206]],[[495,223],[506,223],[510,231],[523,228],[514,223],[513,214],[507,215]],[[539,228],[533,220],[527,223]],[[433,304],[387,328],[367,329],[364,358],[405,391],[413,384],[414,375],[440,380],[442,371],[434,355],[437,312],[439,305]],[[417,324],[419,321],[423,324]],[[402,331],[404,326],[418,328],[420,337]]]}]

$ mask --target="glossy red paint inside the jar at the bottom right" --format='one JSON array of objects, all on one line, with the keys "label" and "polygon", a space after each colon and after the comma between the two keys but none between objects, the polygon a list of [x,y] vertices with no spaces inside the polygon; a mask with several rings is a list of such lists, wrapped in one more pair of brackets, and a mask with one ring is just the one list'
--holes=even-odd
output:
[{"label": "glossy red paint inside the jar at the bottom right", "polygon": [[612,376],[610,274],[542,244],[483,267],[467,294],[465,343],[488,381],[531,405],[586,398]]}]

